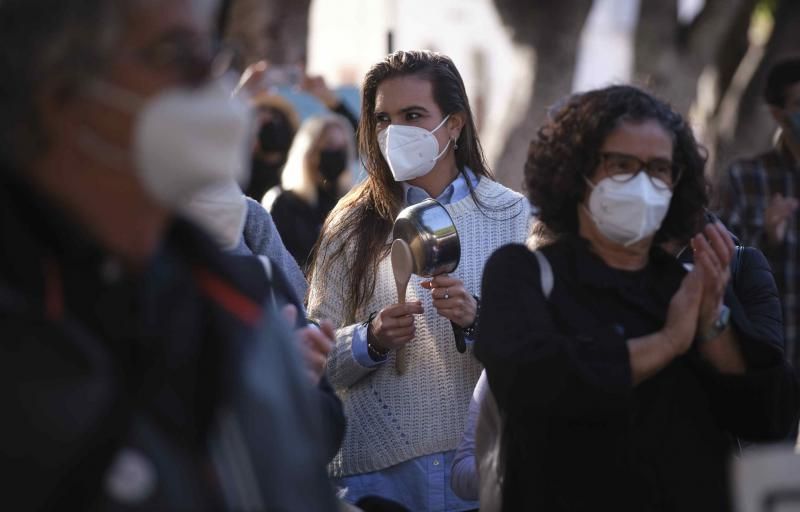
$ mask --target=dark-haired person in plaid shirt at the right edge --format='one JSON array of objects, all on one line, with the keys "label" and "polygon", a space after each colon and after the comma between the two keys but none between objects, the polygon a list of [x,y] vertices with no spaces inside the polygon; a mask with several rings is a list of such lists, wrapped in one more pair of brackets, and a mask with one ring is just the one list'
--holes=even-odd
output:
[{"label": "dark-haired person in plaid shirt at the right edge", "polygon": [[781,128],[777,144],[752,159],[734,162],[723,183],[722,218],[743,245],[769,260],[783,303],[786,355],[800,368],[800,57],[777,63],[764,96]]}]

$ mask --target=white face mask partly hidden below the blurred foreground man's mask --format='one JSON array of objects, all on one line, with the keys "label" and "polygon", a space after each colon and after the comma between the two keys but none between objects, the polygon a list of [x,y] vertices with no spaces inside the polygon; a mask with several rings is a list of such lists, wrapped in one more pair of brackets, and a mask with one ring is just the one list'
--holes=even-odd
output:
[{"label": "white face mask partly hidden below the blurred foreground man's mask", "polygon": [[223,249],[235,249],[247,219],[247,199],[229,180],[196,193],[179,210],[204,227]]}]

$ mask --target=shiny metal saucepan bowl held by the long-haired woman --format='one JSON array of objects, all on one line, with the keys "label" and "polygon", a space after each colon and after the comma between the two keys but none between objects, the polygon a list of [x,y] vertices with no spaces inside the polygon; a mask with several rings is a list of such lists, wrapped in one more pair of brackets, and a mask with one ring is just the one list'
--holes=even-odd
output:
[{"label": "shiny metal saucepan bowl held by the long-haired woman", "polygon": [[450,214],[435,199],[404,208],[394,221],[392,238],[404,240],[422,277],[451,273],[461,260],[461,242]]}]

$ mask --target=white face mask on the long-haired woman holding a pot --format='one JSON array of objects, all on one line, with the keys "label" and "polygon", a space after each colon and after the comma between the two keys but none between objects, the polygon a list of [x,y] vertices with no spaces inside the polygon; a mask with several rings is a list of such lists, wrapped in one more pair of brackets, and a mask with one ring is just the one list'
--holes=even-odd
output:
[{"label": "white face mask on the long-haired woman holding a pot", "polygon": [[390,124],[378,132],[378,145],[389,164],[395,181],[408,181],[425,176],[445,154],[450,142],[439,152],[439,141],[433,135],[450,118],[446,116],[431,131],[418,126]]}]

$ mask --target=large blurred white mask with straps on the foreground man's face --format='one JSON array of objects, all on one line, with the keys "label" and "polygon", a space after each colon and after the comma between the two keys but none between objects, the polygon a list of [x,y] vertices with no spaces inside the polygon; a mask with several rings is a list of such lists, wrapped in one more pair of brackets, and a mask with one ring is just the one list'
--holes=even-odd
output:
[{"label": "large blurred white mask with straps on the foreground man's face", "polygon": [[[173,88],[152,98],[107,82],[91,94],[136,116],[132,155],[87,133],[87,149],[134,164],[147,191],[169,207],[229,180],[246,182],[250,172],[253,114],[246,100],[231,97],[234,84],[217,79],[195,89]],[[116,155],[109,155],[116,153]]]}]

